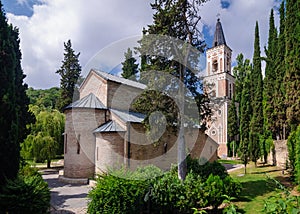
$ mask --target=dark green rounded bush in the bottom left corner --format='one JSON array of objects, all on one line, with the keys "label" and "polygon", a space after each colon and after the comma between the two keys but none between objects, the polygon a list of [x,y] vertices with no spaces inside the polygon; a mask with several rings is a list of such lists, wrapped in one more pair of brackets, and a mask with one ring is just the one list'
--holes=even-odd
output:
[{"label": "dark green rounded bush in the bottom left corner", "polygon": [[1,213],[48,213],[50,190],[42,176],[29,166],[0,190]]}]

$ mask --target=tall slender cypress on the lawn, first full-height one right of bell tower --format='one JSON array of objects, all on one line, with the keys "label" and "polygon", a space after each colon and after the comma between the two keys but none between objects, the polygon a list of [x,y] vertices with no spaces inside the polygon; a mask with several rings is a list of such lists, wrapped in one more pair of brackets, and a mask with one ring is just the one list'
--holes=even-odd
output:
[{"label": "tall slender cypress on the lawn, first full-height one right of bell tower", "polygon": [[[261,57],[259,44],[259,27],[258,22],[255,25],[254,54],[253,54],[253,71],[251,72],[251,106],[252,115],[250,122],[250,158],[255,163],[260,157],[260,137],[263,134],[263,108],[262,93],[263,80],[261,71]],[[264,145],[262,145],[264,147]]]}]

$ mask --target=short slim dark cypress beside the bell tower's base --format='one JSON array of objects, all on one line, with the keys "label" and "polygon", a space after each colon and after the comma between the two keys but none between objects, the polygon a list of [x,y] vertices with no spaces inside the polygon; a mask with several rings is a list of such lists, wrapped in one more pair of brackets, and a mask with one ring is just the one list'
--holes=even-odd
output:
[{"label": "short slim dark cypress beside the bell tower's base", "polygon": [[232,149],[232,156],[235,156],[235,152],[237,149],[237,146],[235,144],[236,136],[239,134],[239,127],[238,127],[238,117],[237,117],[237,109],[236,109],[236,102],[235,102],[235,96],[233,97],[228,110],[228,120],[227,120],[227,135],[229,138],[229,142],[233,145]]}]

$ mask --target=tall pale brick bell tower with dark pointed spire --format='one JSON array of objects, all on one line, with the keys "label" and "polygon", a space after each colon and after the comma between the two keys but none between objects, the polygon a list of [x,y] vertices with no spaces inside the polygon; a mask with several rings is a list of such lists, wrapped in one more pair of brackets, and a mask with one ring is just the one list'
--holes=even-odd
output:
[{"label": "tall pale brick bell tower with dark pointed spire", "polygon": [[209,94],[212,118],[207,134],[219,144],[218,156],[227,157],[227,118],[232,100],[235,78],[231,74],[232,50],[227,46],[218,18],[212,48],[206,51],[206,77],[204,88]]}]

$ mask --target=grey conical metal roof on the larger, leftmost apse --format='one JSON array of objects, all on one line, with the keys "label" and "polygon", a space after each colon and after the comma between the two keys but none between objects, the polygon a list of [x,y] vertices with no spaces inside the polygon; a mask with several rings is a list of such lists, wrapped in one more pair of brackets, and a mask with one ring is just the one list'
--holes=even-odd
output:
[{"label": "grey conical metal roof on the larger, leftmost apse", "polygon": [[93,93],[90,93],[89,95],[83,97],[82,99],[77,100],[74,103],[71,103],[70,105],[65,107],[64,110],[70,108],[107,109],[106,106]]}]

